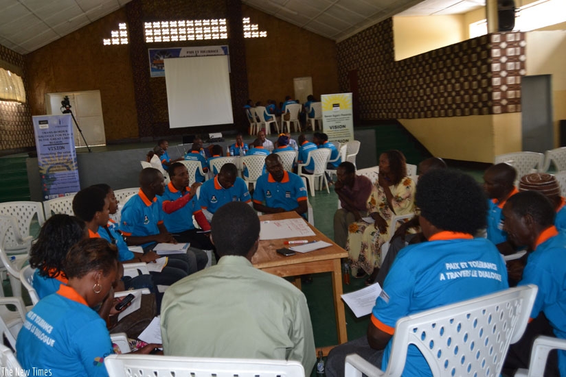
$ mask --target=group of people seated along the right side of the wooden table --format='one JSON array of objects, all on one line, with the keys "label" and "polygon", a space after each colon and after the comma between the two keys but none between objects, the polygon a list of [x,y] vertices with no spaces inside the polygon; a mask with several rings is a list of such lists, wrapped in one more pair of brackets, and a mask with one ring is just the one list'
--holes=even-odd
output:
[{"label": "group of people seated along the right side of the wooden table", "polygon": [[[367,284],[379,282],[383,293],[367,337],[334,348],[327,376],[343,376],[352,353],[385,370],[401,317],[517,285],[536,284],[539,291],[533,320],[511,346],[504,370],[528,367],[537,335],[566,339],[566,200],[554,175],[525,175],[517,189],[517,172],[506,163],[486,170],[483,187],[446,169],[440,158],[422,161],[419,171],[416,183],[396,150],[381,154],[374,182],[356,175],[348,162],[337,169],[335,241],[348,250],[352,276],[369,276]],[[389,222],[411,212],[417,215],[400,226]],[[382,263],[385,241],[390,245]],[[504,262],[503,256],[520,250],[526,250],[522,258]],[[566,376],[566,352],[557,354],[547,373]],[[409,347],[403,376],[425,375],[431,375],[425,359]]]}]

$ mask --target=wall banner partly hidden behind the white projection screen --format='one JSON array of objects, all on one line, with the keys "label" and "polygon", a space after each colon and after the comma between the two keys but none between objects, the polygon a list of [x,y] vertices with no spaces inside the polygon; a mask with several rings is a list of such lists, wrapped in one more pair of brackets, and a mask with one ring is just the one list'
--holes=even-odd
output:
[{"label": "wall banner partly hidden behind the white projection screen", "polygon": [[[165,77],[165,63],[163,60],[170,58],[194,58],[194,56],[217,56],[228,57],[228,46],[201,46],[201,47],[172,47],[170,49],[148,49],[150,77]],[[228,59],[228,72],[230,71],[230,60]]]}]

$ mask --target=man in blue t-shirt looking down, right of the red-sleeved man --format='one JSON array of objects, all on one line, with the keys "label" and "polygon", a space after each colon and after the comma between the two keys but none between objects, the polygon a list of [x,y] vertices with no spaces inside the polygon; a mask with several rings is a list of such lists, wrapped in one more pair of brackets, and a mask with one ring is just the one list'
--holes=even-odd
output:
[{"label": "man in blue t-shirt looking down, right of the red-sleeved man", "polygon": [[208,221],[212,220],[218,208],[229,202],[251,204],[247,184],[238,177],[238,169],[234,164],[222,165],[220,173],[213,180],[203,183],[199,195],[199,205]]}]

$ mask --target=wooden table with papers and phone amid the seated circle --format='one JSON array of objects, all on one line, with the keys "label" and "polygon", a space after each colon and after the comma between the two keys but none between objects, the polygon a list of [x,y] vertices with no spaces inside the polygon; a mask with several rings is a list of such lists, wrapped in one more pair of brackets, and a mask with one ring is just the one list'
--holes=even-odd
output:
[{"label": "wooden table with papers and phone amid the seated circle", "polygon": [[[261,221],[273,221],[282,219],[297,219],[300,217],[297,212],[273,213],[271,215],[260,216]],[[346,334],[346,314],[344,313],[344,304],[340,295],[342,294],[342,270],[340,258],[346,258],[348,252],[339,247],[331,239],[322,234],[317,228],[310,226],[315,232],[315,236],[296,237],[292,239],[273,239],[260,241],[258,252],[253,256],[251,262],[258,269],[273,273],[273,275],[286,277],[297,276],[295,285],[301,287],[301,275],[308,273],[332,272],[332,289],[334,291],[334,308],[336,313],[336,327],[338,332],[339,343],[346,343],[348,335]],[[306,239],[308,241],[325,241],[332,243],[332,246],[324,249],[315,250],[308,253],[297,253],[293,256],[282,256],[275,250],[281,247],[288,247],[283,244],[284,241],[293,239]],[[333,347],[321,348],[326,355]]]}]

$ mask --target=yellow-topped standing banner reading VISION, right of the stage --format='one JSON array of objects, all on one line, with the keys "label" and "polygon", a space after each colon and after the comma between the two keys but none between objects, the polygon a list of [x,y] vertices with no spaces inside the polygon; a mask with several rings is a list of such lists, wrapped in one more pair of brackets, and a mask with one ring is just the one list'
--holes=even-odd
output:
[{"label": "yellow-topped standing banner reading VISION, right of the stage", "polygon": [[322,128],[328,141],[348,143],[354,140],[352,93],[321,95]]}]

